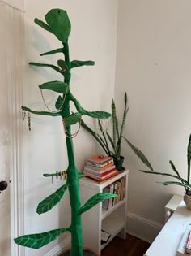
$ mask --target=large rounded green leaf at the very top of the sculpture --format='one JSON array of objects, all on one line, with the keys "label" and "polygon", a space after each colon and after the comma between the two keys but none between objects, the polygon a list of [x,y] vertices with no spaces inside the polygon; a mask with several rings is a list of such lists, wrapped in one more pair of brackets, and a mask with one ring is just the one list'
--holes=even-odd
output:
[{"label": "large rounded green leaf at the very top of the sculpture", "polygon": [[68,40],[71,24],[66,11],[62,9],[52,9],[45,15],[45,20],[58,40],[62,42]]}]

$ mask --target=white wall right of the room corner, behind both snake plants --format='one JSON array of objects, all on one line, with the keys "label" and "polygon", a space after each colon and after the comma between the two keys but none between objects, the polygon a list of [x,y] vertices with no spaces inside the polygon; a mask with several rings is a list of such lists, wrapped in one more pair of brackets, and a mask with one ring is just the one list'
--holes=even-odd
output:
[{"label": "white wall right of the room corner, behind both snake plants", "polygon": [[[115,98],[122,112],[123,93],[130,111],[125,136],[150,159],[156,171],[170,171],[172,159],[186,178],[186,149],[191,132],[191,2],[121,0],[119,2]],[[177,186],[142,174],[146,169],[123,147],[129,168],[129,214],[163,223],[163,207]]]}]

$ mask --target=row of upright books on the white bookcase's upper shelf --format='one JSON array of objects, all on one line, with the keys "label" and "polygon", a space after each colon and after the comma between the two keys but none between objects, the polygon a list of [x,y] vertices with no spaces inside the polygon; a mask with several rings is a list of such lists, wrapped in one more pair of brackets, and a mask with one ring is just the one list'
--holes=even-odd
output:
[{"label": "row of upright books on the white bookcase's upper shelf", "polygon": [[117,197],[112,197],[105,199],[102,202],[102,208],[104,210],[110,209],[112,206],[115,206],[118,202],[122,201],[125,197],[125,186],[126,180],[125,178],[121,178],[115,181],[112,184],[109,184],[107,187],[103,189],[104,193],[116,193]]}]

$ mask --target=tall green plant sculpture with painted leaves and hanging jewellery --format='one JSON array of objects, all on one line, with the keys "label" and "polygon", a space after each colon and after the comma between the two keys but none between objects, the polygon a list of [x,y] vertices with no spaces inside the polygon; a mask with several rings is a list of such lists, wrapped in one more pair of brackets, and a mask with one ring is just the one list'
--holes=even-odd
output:
[{"label": "tall green plant sculpture with painted leaves and hanging jewellery", "polygon": [[[39,85],[40,90],[48,89],[55,93],[61,93],[55,102],[56,111],[33,111],[26,106],[22,106],[23,111],[28,111],[36,115],[49,115],[53,117],[61,117],[66,133],[66,148],[68,155],[68,167],[66,170],[66,184],[63,184],[56,192],[46,197],[45,200],[39,203],[37,207],[38,214],[44,214],[56,206],[64,196],[66,189],[69,189],[70,206],[71,206],[71,223],[69,227],[57,228],[40,234],[24,235],[15,238],[15,242],[19,245],[27,246],[34,249],[49,244],[55,240],[63,232],[71,233],[71,256],[83,256],[83,241],[82,241],[82,225],[81,215],[83,212],[91,209],[97,203],[102,202],[105,198],[115,197],[112,193],[98,193],[91,197],[83,206],[81,206],[79,196],[79,178],[83,175],[79,173],[74,160],[73,137],[71,134],[71,125],[80,123],[82,115],[89,115],[92,118],[106,119],[110,116],[107,112],[95,111],[90,112],[83,109],[79,101],[74,98],[70,91],[71,70],[75,67],[92,66],[93,61],[70,61],[68,38],[70,35],[70,20],[66,11],[61,9],[52,9],[45,15],[45,22],[39,19],[34,20],[41,28],[44,28],[49,33],[53,33],[59,41],[62,42],[62,48],[51,50],[43,55],[62,53],[64,58],[57,61],[57,65],[47,63],[30,63],[32,66],[49,67],[55,72],[59,72],[64,77],[64,81],[49,81]],[[75,113],[70,113],[70,102],[74,102],[76,107]],[[76,133],[75,133],[76,135]],[[52,174],[56,175],[56,174]]]}]

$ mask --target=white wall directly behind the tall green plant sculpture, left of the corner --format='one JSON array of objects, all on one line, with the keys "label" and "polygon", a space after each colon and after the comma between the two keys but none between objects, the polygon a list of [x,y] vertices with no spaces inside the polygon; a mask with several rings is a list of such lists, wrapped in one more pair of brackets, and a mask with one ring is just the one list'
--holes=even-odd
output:
[{"label": "white wall directly behind the tall green plant sculpture, left of the corner", "polygon": [[[95,67],[81,67],[73,72],[70,88],[84,108],[91,111],[110,110],[114,95],[117,3],[116,0],[26,0],[26,77],[23,93],[24,106],[45,110],[38,85],[49,80],[62,79],[49,69],[28,67],[29,61],[56,63],[57,56],[40,57],[39,54],[56,49],[60,42],[53,35],[33,24],[35,17],[44,20],[51,9],[60,7],[70,16],[70,59],[95,60]],[[55,96],[45,92],[45,99],[53,106]],[[24,171],[25,171],[25,233],[45,232],[63,227],[70,219],[70,207],[57,206],[45,215],[36,214],[37,204],[53,193],[60,181],[51,184],[45,172],[61,171],[67,167],[65,136],[60,118],[32,115],[32,131],[24,124]],[[87,122],[91,122],[87,119]],[[77,127],[75,127],[77,128]],[[79,170],[85,159],[96,152],[96,142],[80,130],[74,138],[74,151]],[[26,255],[45,255],[58,241],[43,249],[26,249]]]}]

